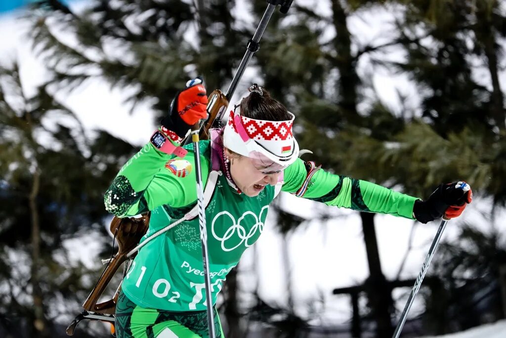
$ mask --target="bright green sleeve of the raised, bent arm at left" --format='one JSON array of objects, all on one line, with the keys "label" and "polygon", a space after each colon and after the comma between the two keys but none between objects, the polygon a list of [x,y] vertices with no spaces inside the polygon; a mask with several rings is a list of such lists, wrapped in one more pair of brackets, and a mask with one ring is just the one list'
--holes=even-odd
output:
[{"label": "bright green sleeve of the raised, bent arm at left", "polygon": [[[167,204],[183,207],[197,199],[193,145],[185,146],[184,159],[146,144],[118,172],[104,196],[107,211],[118,217],[133,216]],[[209,171],[209,142],[200,141],[202,183]]]}]

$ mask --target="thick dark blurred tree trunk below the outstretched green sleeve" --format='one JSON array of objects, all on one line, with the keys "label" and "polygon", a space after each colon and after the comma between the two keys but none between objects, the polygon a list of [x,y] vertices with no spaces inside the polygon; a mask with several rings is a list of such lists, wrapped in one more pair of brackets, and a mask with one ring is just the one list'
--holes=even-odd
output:
[{"label": "thick dark blurred tree trunk below the outstretched green sleeve", "polygon": [[374,229],[374,214],[361,212],[362,231],[364,232],[365,248],[367,250],[367,262],[369,264],[369,278],[367,279],[366,292],[372,316],[376,321],[376,337],[389,338],[394,333],[391,321],[391,309],[393,306],[392,290],[383,275],[381,261]]}]

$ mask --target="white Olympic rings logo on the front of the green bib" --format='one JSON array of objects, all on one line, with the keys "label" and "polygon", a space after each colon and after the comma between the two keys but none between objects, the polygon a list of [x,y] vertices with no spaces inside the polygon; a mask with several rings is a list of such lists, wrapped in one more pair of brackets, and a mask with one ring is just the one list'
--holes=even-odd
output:
[{"label": "white Olympic rings logo on the front of the green bib", "polygon": [[[257,216],[254,212],[246,211],[242,214],[241,217],[239,217],[237,222],[235,221],[234,216],[232,216],[232,214],[230,212],[228,212],[228,211],[219,212],[215,216],[215,218],[213,218],[213,223],[211,224],[211,232],[213,233],[213,237],[221,242],[222,250],[223,251],[232,251],[234,249],[237,249],[242,243],[244,243],[246,248],[253,245],[255,243],[256,239],[258,239],[260,234],[262,234],[262,232],[264,231],[264,222],[262,221],[262,214],[264,213],[264,211],[266,211],[266,214],[264,216],[264,220],[265,220],[265,218],[267,217],[267,209],[268,208],[269,208],[268,205],[264,206],[262,208],[262,210],[260,210],[259,216]],[[246,229],[244,229],[244,227],[241,226],[241,221],[243,221],[244,218],[248,215],[250,215],[250,217],[254,218],[255,224],[251,227],[251,229],[249,229],[248,233],[246,234]],[[216,231],[215,231],[215,224],[219,220],[219,218],[221,218],[221,216],[223,216],[223,217],[228,216],[228,218],[230,218],[230,220],[232,220],[232,226],[227,229],[227,231],[225,232],[223,237],[220,237],[219,235],[217,235]],[[223,222],[224,222],[224,220],[221,221],[221,223],[223,223]],[[237,237],[240,239],[239,243],[237,243],[233,247],[227,247],[227,245],[226,245],[227,240],[233,239],[233,238],[235,238],[237,240],[237,237],[234,236],[236,234],[236,232],[237,232]],[[258,236],[256,236],[257,232],[260,233]],[[249,243],[248,240],[250,240],[251,238],[254,238],[254,241],[252,243]],[[230,243],[232,241],[228,241],[228,243]],[[229,246],[231,246],[231,244],[229,244]]]}]

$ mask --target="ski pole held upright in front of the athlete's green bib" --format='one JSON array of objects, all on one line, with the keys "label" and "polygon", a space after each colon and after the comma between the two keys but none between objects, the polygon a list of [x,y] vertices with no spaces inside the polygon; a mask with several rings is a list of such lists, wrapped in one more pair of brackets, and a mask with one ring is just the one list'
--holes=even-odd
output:
[{"label": "ski pole held upright in front of the athlete's green bib", "polygon": [[198,220],[200,224],[200,245],[202,247],[202,262],[204,265],[204,284],[205,284],[205,303],[207,305],[207,326],[209,328],[209,337],[216,337],[215,319],[213,313],[213,302],[211,292],[211,281],[209,278],[209,255],[207,254],[207,232],[205,227],[205,208],[204,193],[202,187],[202,171],[200,166],[200,149],[198,148],[199,129],[192,130],[191,138],[195,153],[195,177],[197,179],[197,204],[198,204]]}]

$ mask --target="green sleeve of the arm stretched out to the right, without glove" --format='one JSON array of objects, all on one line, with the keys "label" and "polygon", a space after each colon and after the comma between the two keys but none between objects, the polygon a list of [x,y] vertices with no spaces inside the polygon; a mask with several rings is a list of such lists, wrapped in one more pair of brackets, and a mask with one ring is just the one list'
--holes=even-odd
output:
[{"label": "green sleeve of the arm stretched out to the right, without glove", "polygon": [[[302,197],[327,205],[358,211],[384,213],[413,218],[414,201],[418,198],[401,194],[384,186],[334,175],[318,169],[309,177],[304,161],[298,159],[284,171],[282,190],[296,194],[307,184]],[[301,195],[298,195],[301,196]]]}]

